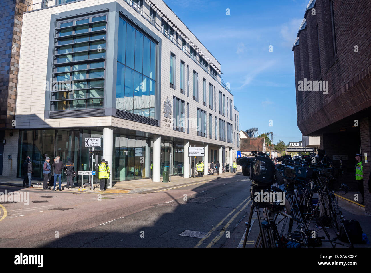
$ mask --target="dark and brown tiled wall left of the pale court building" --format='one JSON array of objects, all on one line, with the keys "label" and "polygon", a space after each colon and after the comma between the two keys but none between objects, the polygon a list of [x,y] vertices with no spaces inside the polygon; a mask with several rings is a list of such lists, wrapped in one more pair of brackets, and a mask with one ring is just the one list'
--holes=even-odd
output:
[{"label": "dark and brown tiled wall left of the pale court building", "polygon": [[23,13],[32,3],[3,0],[0,4],[0,128],[13,128]]}]

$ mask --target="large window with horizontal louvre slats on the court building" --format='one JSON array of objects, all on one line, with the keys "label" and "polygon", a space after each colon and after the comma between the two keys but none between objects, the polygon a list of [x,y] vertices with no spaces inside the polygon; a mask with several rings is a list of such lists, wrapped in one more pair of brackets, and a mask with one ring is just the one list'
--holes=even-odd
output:
[{"label": "large window with horizontal louvre slats on the court building", "polygon": [[106,29],[106,14],[58,23],[51,111],[103,107]]}]

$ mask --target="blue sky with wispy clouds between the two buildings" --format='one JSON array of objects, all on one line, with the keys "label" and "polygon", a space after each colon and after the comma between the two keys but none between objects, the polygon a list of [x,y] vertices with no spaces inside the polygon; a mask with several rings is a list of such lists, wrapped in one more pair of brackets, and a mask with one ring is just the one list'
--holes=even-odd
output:
[{"label": "blue sky with wispy clouds between the two buildings", "polygon": [[301,141],[291,47],[308,2],[165,0],[221,63],[240,112],[240,129],[273,132],[274,143]]}]

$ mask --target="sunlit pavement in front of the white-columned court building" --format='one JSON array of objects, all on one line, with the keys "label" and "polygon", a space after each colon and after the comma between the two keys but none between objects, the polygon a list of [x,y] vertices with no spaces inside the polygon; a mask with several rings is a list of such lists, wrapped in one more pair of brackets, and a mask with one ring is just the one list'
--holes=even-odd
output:
[{"label": "sunlit pavement in front of the white-columned court building", "polygon": [[[220,175],[205,175],[204,177],[190,177],[190,178],[183,178],[179,175],[171,176],[170,182],[153,182],[151,178],[146,179],[137,179],[137,180],[127,180],[127,181],[119,181],[119,182],[112,182],[112,188],[107,188],[105,191],[99,190],[99,184],[93,184],[93,190],[87,184],[84,184],[81,187],[81,182],[77,185],[75,182],[75,188],[67,188],[67,184],[62,182],[62,190],[66,191],[78,191],[78,192],[89,192],[89,193],[142,193],[142,192],[151,192],[151,191],[158,191],[164,190],[168,188],[174,188],[178,186],[198,183],[198,182],[208,182],[213,181],[216,179],[221,178],[229,178],[234,177],[235,175],[242,174],[241,171],[237,171],[236,173],[233,172],[223,172]],[[162,180],[162,178],[161,178]],[[31,181],[33,187],[35,188],[42,188],[42,181],[34,180]],[[40,185],[36,185],[36,183],[40,183]],[[0,175],[0,185],[7,185],[7,186],[15,186],[15,187],[23,187],[23,178],[11,178],[6,176]],[[58,182],[56,183],[56,188],[59,187]]]}]

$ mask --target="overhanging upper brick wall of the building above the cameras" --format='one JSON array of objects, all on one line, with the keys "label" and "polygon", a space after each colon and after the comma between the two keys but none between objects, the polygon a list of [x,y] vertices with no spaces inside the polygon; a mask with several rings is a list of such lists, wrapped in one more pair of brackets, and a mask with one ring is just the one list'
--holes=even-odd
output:
[{"label": "overhanging upper brick wall of the building above the cameras", "polygon": [[[320,129],[371,106],[371,1],[334,1],[336,55],[329,3],[329,0],[317,0],[316,15],[310,11],[306,13],[306,30],[299,33],[299,45],[293,49],[298,127],[303,135],[318,133]],[[355,45],[359,52],[354,52]],[[308,64],[310,80],[329,81],[328,94],[297,90],[298,81],[306,75],[302,71],[306,69],[305,64]],[[300,74],[297,73],[298,66]]]}]

